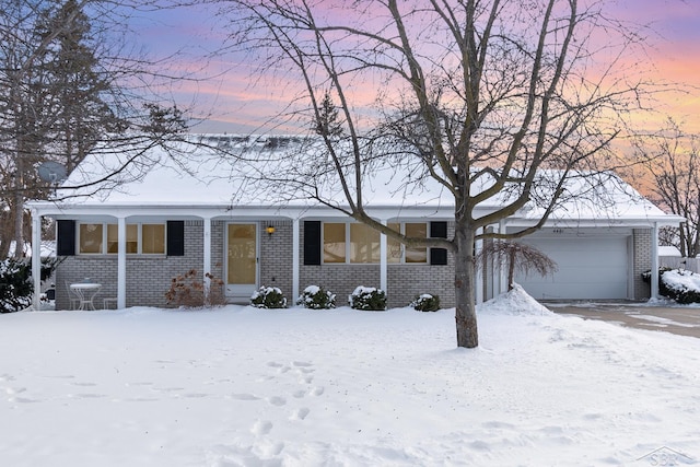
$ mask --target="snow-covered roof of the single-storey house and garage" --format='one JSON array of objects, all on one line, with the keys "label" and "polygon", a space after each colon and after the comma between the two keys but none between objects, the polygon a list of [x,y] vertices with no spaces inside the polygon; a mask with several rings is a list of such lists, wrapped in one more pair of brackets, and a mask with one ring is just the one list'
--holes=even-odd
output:
[{"label": "snow-covered roof of the single-storey house and garage", "polygon": [[[300,164],[300,152],[308,164],[314,163],[313,144],[301,137],[236,137],[225,135],[192,136],[170,150],[154,145],[145,151],[133,148],[120,152],[95,151],[86,157],[57,190],[58,206],[138,208],[152,207],[222,207],[277,209],[315,209],[322,205],[307,192],[285,190],[284,184],[269,179],[306,176]],[[300,151],[301,149],[301,151]],[[223,152],[222,152],[223,151]],[[222,156],[222,154],[225,154]],[[541,171],[540,183],[533,199],[547,198],[552,179],[559,174]],[[667,217],[637,190],[614,174],[573,177],[567,184],[569,195],[550,215],[552,220],[644,220],[677,223],[680,218]],[[594,177],[595,178],[595,177]],[[454,197],[435,179],[417,175],[416,166],[372,162],[363,175],[364,205],[372,208],[394,207],[402,212],[431,208],[452,214]],[[346,206],[339,184],[329,177],[318,184],[326,199]],[[479,207],[485,212],[503,206],[510,194],[491,198]],[[34,202],[32,206],[42,206]],[[535,202],[513,217],[533,222],[541,214]],[[672,219],[673,218],[673,219]]]}]

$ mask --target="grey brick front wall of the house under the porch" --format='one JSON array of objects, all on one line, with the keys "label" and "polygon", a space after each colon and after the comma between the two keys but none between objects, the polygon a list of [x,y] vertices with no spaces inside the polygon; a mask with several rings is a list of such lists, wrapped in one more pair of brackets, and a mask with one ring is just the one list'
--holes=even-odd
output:
[{"label": "grey brick front wall of the house under the porch", "polygon": [[[265,232],[267,225],[275,233]],[[225,221],[214,221],[211,226],[211,273],[225,280],[224,238]],[[454,225],[450,224],[448,236]],[[296,300],[292,294],[292,221],[261,222],[259,224],[259,280],[260,285],[278,287],[290,304]],[[300,248],[303,249],[303,229]],[[300,250],[303,262],[303,250]],[[202,276],[203,222],[185,221],[184,256],[127,256],[127,306],[166,306],[165,292],[171,280],[190,269]],[[415,295],[433,293],[440,295],[444,307],[454,306],[454,259],[448,255],[446,266],[388,265],[387,297],[389,306],[406,306]],[[95,300],[97,307],[102,299],[117,296],[116,255],[75,255],[65,257],[56,271],[57,310],[69,307],[66,283],[90,278],[103,284]],[[307,285],[320,285],[337,294],[339,306],[358,285],[380,287],[380,265],[322,265],[300,266],[300,292]]]}]

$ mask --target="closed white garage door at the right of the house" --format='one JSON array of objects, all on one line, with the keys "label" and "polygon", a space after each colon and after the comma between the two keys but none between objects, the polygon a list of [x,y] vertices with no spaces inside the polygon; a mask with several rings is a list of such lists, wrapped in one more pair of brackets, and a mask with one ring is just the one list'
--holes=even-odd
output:
[{"label": "closed white garage door at the right of the house", "polygon": [[557,262],[548,277],[530,272],[515,282],[539,300],[628,297],[627,237],[524,238]]}]

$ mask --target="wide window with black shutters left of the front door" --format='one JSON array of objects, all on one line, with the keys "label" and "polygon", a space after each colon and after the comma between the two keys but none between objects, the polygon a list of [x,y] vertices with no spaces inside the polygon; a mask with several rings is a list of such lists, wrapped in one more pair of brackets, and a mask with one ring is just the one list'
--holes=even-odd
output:
[{"label": "wide window with black shutters left of the front door", "polygon": [[[165,224],[127,224],[126,252],[130,255],[164,255]],[[81,254],[119,253],[119,226],[117,224],[80,224]]]}]

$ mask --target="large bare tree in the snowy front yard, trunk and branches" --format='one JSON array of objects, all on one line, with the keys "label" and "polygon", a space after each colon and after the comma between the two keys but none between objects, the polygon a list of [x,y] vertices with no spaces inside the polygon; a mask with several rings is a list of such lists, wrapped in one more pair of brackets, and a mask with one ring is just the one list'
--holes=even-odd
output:
[{"label": "large bare tree in the snowy front yard, trunk and branches", "polygon": [[[220,3],[231,48],[247,50],[278,89],[298,91],[285,122],[311,121],[323,139],[261,179],[406,245],[453,252],[459,347],[478,346],[475,242],[534,232],[569,196],[570,178],[609,168],[616,119],[640,96],[621,61],[638,36],[605,16],[604,1]],[[406,189],[430,178],[452,194],[454,237],[411,238],[372,219],[364,189],[377,166],[410,174]],[[328,187],[345,202],[327,198]],[[541,212],[530,226],[486,229],[528,205]]]}]

